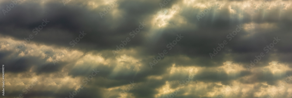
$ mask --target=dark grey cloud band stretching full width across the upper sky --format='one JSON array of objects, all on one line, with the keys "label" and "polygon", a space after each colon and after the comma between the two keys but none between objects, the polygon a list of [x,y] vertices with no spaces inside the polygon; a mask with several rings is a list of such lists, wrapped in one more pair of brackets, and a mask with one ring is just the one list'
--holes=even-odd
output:
[{"label": "dark grey cloud band stretching full width across the upper sky", "polygon": [[[44,27],[44,29],[42,29],[38,35],[34,36],[34,39],[32,39],[32,41],[38,41],[40,43],[45,43],[49,45],[54,44],[54,45],[69,46],[69,42],[72,41],[72,39],[74,39],[75,36],[78,36],[79,31],[85,31],[87,35],[85,36],[85,38],[81,39],[82,41],[78,43],[79,45],[76,45],[76,47],[74,48],[82,49],[81,47],[87,47],[85,50],[115,49],[116,48],[115,46],[119,45],[121,40],[125,40],[126,37],[130,37],[128,33],[132,31],[133,29],[137,28],[139,26],[139,22],[145,21],[146,24],[150,26],[150,23],[147,22],[149,21],[149,18],[147,18],[147,16],[151,16],[155,14],[158,10],[160,10],[159,6],[147,7],[147,6],[157,5],[157,3],[159,3],[158,1],[142,1],[142,2],[135,1],[136,2],[135,6],[139,6],[138,7],[139,9],[133,8],[135,6],[131,6],[131,3],[129,2],[131,1],[119,1],[119,5],[117,6],[117,8],[123,12],[122,16],[124,17],[123,20],[119,20],[119,21],[110,21],[110,19],[114,15],[107,15],[105,16],[104,19],[101,19],[98,17],[98,14],[92,13],[92,12],[102,12],[102,10],[100,9],[102,9],[102,7],[104,6],[101,6],[100,8],[89,9],[86,7],[86,5],[81,5],[84,7],[69,5],[70,7],[69,8],[69,7],[63,6],[62,4],[58,2],[49,2],[49,3],[44,4],[44,6],[39,6],[38,2],[20,4],[18,5],[18,7],[13,8],[15,11],[11,11],[11,16],[14,16],[14,17],[7,16],[5,18],[2,18],[1,20],[2,27],[3,27],[2,30],[5,30],[2,32],[19,39],[23,39],[24,38],[23,36],[28,37],[29,34],[33,34],[30,31],[34,29],[35,27],[37,27],[38,25],[40,25],[42,22],[42,19],[48,19],[48,21],[50,21],[48,23],[48,26]],[[171,1],[167,5],[171,5],[173,4],[173,2],[177,2],[177,1]],[[5,4],[6,3],[4,3],[3,5]],[[54,7],[51,7],[51,6],[54,6]],[[214,17],[214,15],[212,15],[214,13],[212,12],[214,12],[216,8],[218,8],[218,6],[213,7],[210,13],[206,15],[203,19],[201,19],[201,21],[197,21],[196,17],[194,17],[196,13],[199,13],[198,9],[191,8],[192,10],[190,10],[190,8],[185,8],[185,10],[180,12],[180,14],[183,17],[186,17],[185,19],[191,20],[190,24],[196,24],[196,26],[198,26],[197,29],[194,29],[192,27],[187,27],[186,25],[183,25],[181,27],[170,25],[169,27],[171,28],[163,30],[161,32],[163,35],[160,36],[159,38],[160,39],[159,42],[165,42],[165,43],[147,42],[147,44],[144,44],[143,41],[147,40],[147,38],[142,37],[142,34],[140,34],[140,35],[137,35],[138,37],[133,38],[132,41],[128,43],[126,48],[131,47],[132,44],[135,44],[135,46],[149,45],[149,46],[152,46],[152,48],[150,48],[151,51],[148,51],[148,53],[157,54],[161,50],[165,49],[165,46],[168,42],[171,42],[173,40],[171,39],[172,36],[174,36],[175,34],[181,33],[182,35],[185,36],[184,38],[185,40],[182,40],[180,42],[180,44],[177,46],[179,48],[174,48],[173,51],[176,51],[176,52],[172,52],[170,54],[185,54],[190,57],[200,55],[201,57],[206,57],[207,59],[208,55],[206,54],[213,52],[213,48],[218,47],[217,45],[218,43],[222,43],[223,40],[227,40],[225,36],[231,33],[233,30],[235,30],[236,25],[243,25],[245,23],[250,23],[251,17],[263,15],[263,14],[259,14],[261,12],[256,13],[256,16],[251,16],[248,13],[243,13],[244,21],[232,21],[232,20],[229,20],[230,17],[232,16],[230,16],[230,13],[227,7],[224,7],[221,10],[217,10],[216,12],[217,15]],[[36,11],[31,11],[31,10],[36,10]],[[192,13],[191,15],[193,15],[193,17],[188,17],[187,13],[190,13],[188,10],[191,11]],[[18,13],[18,11],[21,13]],[[254,11],[257,11],[257,10],[254,10]],[[31,12],[32,14],[27,15],[27,13],[24,13],[24,12]],[[142,14],[137,14],[137,12],[142,13]],[[259,45],[263,45],[267,43],[266,41],[268,40],[268,38],[272,39],[272,37],[276,37],[277,35],[281,35],[281,36],[286,36],[286,34],[290,35],[290,33],[285,33],[289,29],[280,27],[280,25],[283,25],[283,23],[279,20],[276,20],[278,18],[275,16],[279,14],[279,13],[276,13],[277,10],[272,10],[270,12],[271,13],[267,13],[267,17],[264,18],[264,20],[262,21],[265,21],[268,23],[276,22],[276,24],[279,24],[279,29],[276,32],[284,33],[284,34],[275,34],[274,33],[275,31],[270,31],[270,33],[265,32],[266,34],[263,36],[261,31],[256,31],[258,32],[258,34],[254,35],[253,38],[243,39],[242,36],[248,34],[248,32],[242,30],[214,58],[215,59],[222,58],[221,55],[227,52],[226,49],[232,49],[233,50],[232,52],[235,52],[235,53],[248,52],[248,51],[260,52],[263,46],[260,47]],[[17,15],[14,15],[14,14],[17,14]],[[23,16],[26,16],[26,17],[23,17]],[[210,19],[212,17],[214,18]],[[284,17],[280,19],[286,20],[287,18],[289,19],[290,17]],[[256,19],[256,20],[260,20],[260,19]],[[290,22],[284,22],[284,23],[290,23]],[[117,28],[114,28],[114,29],[109,28],[111,27],[110,25],[112,24],[118,25],[116,26]],[[22,28],[22,29],[20,29],[21,31],[14,31],[12,29],[16,27],[12,27],[11,25],[16,26],[17,28]],[[291,24],[288,24],[288,25],[285,24],[285,25],[286,25],[285,27],[287,26],[289,27],[289,25]],[[147,26],[145,29],[142,29],[140,33],[148,33],[145,31],[147,31]],[[261,39],[261,40],[258,41],[257,39]],[[283,40],[285,40],[285,38],[283,38]],[[287,40],[289,39],[287,38]],[[201,43],[201,42],[204,42],[204,43]],[[257,47],[254,47],[254,46],[257,46]],[[257,50],[257,51],[254,51],[254,50]],[[205,60],[201,60],[201,61],[204,62]],[[218,62],[220,61],[222,61],[222,59],[218,60]],[[208,64],[208,62],[205,62],[203,64],[212,65],[212,64]]]}]

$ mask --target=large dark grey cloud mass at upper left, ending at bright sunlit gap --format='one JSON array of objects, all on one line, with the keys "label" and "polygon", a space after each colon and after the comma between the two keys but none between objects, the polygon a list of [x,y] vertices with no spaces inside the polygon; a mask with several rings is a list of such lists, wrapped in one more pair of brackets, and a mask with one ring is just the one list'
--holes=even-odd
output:
[{"label": "large dark grey cloud mass at upper left, ending at bright sunlit gap", "polygon": [[[81,1],[71,2],[81,3]],[[139,6],[140,9],[135,8],[133,12],[129,9],[133,9],[135,6],[132,6],[133,4],[129,2],[119,1],[119,3],[124,5],[117,6],[116,9],[123,12],[121,13],[123,18],[112,21],[115,15],[106,15],[104,16],[105,18],[101,19],[100,15],[96,14],[103,12],[102,8],[107,5],[90,9],[86,4],[64,6],[58,1],[49,1],[43,6],[40,6],[41,2],[35,1],[34,3],[30,3],[29,1],[25,1],[25,3],[16,5],[17,7],[14,7],[8,15],[1,18],[1,32],[22,40],[24,36],[28,37],[29,34],[33,34],[32,30],[42,23],[42,19],[47,19],[50,21],[48,26],[44,27],[39,34],[34,36],[32,41],[49,45],[69,46],[69,42],[72,41],[74,36],[78,36],[79,31],[85,31],[87,35],[80,43],[86,44],[86,47],[89,49],[114,48],[115,45],[120,44],[121,40],[130,37],[129,32],[138,28],[140,22],[147,22],[147,17],[159,9],[158,6],[148,7],[157,4],[158,1],[135,1],[135,6]],[[2,3],[2,5],[6,4],[9,4],[9,2]],[[135,12],[144,14],[137,14]],[[15,28],[20,31],[13,30]],[[142,30],[144,31],[146,29],[144,28]],[[135,42],[141,43],[138,37],[136,37]],[[131,44],[129,43],[128,46],[131,46]],[[84,45],[77,47],[81,48],[80,46]]]}]

